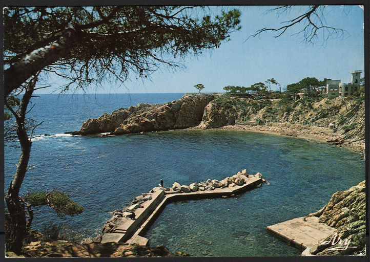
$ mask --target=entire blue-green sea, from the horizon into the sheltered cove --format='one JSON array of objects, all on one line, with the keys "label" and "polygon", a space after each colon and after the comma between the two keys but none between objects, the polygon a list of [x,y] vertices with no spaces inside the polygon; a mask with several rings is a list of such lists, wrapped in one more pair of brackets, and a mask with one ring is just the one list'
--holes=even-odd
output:
[{"label": "entire blue-green sea, from the horizon into the sheltered cove", "polygon": [[[336,191],[365,180],[356,152],[306,139],[227,130],[169,130],[114,137],[71,136],[84,121],[138,103],[167,103],[184,94],[74,94],[32,98],[34,132],[20,194],[57,188],[84,212],[60,219],[48,207],[34,211],[33,228],[64,225],[81,237],[101,234],[112,211],[159,184],[222,180],[246,169],[267,183],[228,199],[174,202],[145,237],[151,246],[191,256],[299,256],[266,227],[321,209]],[[45,136],[47,135],[47,136]],[[19,148],[5,146],[6,192]]]}]

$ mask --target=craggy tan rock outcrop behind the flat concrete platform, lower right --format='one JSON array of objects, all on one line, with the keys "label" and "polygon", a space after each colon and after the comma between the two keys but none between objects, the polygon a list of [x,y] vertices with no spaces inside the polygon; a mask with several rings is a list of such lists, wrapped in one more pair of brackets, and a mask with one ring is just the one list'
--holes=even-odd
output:
[{"label": "craggy tan rock outcrop behind the flat concrete platform, lower right", "polygon": [[346,191],[334,193],[329,203],[310,215],[318,216],[319,222],[337,230],[311,248],[311,254],[333,256],[364,252],[366,244],[365,208],[365,181]]}]

